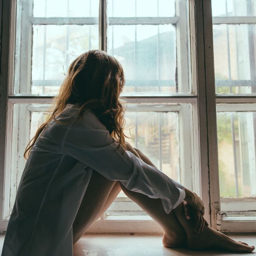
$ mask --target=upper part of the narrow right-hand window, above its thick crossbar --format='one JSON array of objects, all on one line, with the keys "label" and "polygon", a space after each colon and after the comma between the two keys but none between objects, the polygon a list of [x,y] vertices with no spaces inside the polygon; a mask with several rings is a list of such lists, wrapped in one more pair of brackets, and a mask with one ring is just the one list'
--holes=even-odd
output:
[{"label": "upper part of the narrow right-hand window, above its thick crossbar", "polygon": [[256,93],[256,20],[247,17],[255,11],[254,0],[212,0],[218,94]]}]

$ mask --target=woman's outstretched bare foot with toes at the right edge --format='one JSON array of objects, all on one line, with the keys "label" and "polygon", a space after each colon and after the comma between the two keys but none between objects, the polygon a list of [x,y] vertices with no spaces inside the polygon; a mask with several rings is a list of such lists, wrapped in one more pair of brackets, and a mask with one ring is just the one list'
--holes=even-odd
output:
[{"label": "woman's outstretched bare foot with toes at the right edge", "polygon": [[215,248],[220,250],[250,253],[255,249],[254,246],[249,246],[241,241],[235,241],[223,233],[207,226],[204,227],[203,232],[199,235],[195,232],[189,232],[189,234],[187,234],[187,244],[188,248],[192,250]]}]

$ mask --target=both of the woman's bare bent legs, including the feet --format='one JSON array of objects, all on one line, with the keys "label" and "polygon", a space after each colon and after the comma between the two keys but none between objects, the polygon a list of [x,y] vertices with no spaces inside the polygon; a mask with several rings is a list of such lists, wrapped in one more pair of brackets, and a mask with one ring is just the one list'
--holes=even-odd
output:
[{"label": "both of the woman's bare bent legs, including the feet", "polygon": [[[135,150],[136,151],[132,152],[133,154],[141,158],[145,163],[154,166],[141,151]],[[95,172],[89,184],[90,188],[88,186],[89,189],[87,189],[84,195],[83,204],[81,204],[73,224],[73,230],[75,231],[73,236],[74,243],[83,235],[87,228],[99,218],[102,212],[109,207],[122,188],[129,198],[140,205],[148,215],[163,227],[165,231],[163,245],[166,247],[188,245],[189,248],[196,250],[209,247],[219,247],[221,249],[238,252],[250,252],[254,250],[254,247],[236,242],[207,226],[205,226],[203,232],[198,235],[198,233],[194,231],[195,223],[193,220],[187,220],[185,218],[182,204],[169,214],[166,214],[160,199],[148,198],[146,195],[126,189],[120,182],[111,181],[100,176],[102,175]],[[100,188],[100,190],[95,191],[95,187]],[[103,191],[105,191],[105,193],[103,193]],[[95,192],[97,192],[96,195]]]}]

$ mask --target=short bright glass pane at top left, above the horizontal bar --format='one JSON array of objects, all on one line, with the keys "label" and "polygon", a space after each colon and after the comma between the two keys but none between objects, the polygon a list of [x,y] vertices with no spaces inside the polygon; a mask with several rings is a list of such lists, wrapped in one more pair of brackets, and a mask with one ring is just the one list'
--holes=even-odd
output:
[{"label": "short bright glass pane at top left, above the horizontal bar", "polygon": [[34,17],[98,17],[99,1],[34,0]]}]

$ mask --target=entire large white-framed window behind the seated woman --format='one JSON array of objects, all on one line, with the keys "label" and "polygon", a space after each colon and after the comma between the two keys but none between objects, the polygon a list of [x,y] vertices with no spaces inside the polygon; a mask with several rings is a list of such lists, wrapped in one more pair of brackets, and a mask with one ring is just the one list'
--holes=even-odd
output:
[{"label": "entire large white-framed window behind the seated woman", "polygon": [[[12,212],[26,144],[69,64],[88,49],[105,50],[124,67],[129,143],[201,195],[212,227],[232,230],[230,218],[250,223],[253,0],[3,0],[3,8],[1,67],[9,69],[0,78],[0,230]],[[89,231],[161,229],[121,192]]]}]

